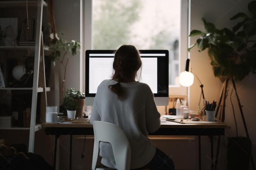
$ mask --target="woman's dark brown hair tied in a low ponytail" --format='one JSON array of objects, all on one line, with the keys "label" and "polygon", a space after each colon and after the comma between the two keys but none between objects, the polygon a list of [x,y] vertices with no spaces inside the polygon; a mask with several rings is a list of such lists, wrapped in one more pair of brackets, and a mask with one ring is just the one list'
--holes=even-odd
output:
[{"label": "woman's dark brown hair tied in a low ponytail", "polygon": [[134,80],[137,71],[141,68],[141,58],[139,50],[132,45],[122,45],[115,51],[113,62],[114,73],[112,79],[117,80],[117,84],[110,85],[109,88],[112,92],[117,94],[120,99],[122,95],[122,88],[120,82],[128,82]]}]

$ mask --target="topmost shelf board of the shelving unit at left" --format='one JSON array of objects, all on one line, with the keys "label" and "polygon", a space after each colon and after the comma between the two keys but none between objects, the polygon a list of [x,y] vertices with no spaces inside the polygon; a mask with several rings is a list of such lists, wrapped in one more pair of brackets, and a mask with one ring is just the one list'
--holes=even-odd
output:
[{"label": "topmost shelf board of the shelving unit at left", "polygon": [[[38,1],[37,0],[12,0],[12,1],[0,1],[0,8],[20,8],[20,7],[38,7]],[[43,1],[43,6],[47,7],[48,4]]]}]

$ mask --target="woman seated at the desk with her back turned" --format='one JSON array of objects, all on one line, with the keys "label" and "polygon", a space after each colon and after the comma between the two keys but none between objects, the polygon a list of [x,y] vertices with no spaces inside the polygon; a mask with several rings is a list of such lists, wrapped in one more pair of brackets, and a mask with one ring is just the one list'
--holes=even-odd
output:
[{"label": "woman seated at the desk with her back turned", "polygon": [[[172,159],[148,139],[148,133],[160,127],[160,113],[150,87],[135,81],[141,64],[135,46],[123,45],[115,51],[112,79],[98,86],[90,123],[98,120],[121,127],[131,146],[130,169],[174,170]],[[110,144],[101,142],[99,155],[103,166],[117,168]]]}]

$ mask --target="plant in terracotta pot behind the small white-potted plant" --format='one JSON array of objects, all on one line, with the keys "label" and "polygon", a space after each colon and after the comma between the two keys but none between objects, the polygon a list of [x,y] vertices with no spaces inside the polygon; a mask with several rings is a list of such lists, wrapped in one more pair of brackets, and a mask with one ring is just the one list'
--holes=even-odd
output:
[{"label": "plant in terracotta pot behind the small white-potted plant", "polygon": [[[65,97],[66,96],[72,97],[72,100],[76,102],[77,104],[76,117],[82,118],[84,108],[85,108],[85,93],[82,93],[81,91],[75,91],[74,88],[68,88],[67,91],[65,92]],[[64,104],[64,99],[63,99],[63,104]]]}]

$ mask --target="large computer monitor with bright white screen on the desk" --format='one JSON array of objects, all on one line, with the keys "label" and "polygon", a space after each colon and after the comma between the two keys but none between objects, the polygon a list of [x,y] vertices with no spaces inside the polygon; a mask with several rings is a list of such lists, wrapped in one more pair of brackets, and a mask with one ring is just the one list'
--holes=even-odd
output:
[{"label": "large computer monitor with bright white screen on the desk", "polygon": [[[168,105],[168,50],[139,50],[141,80],[154,93],[157,106]],[[92,106],[99,84],[111,79],[114,50],[85,51],[85,105]]]}]

